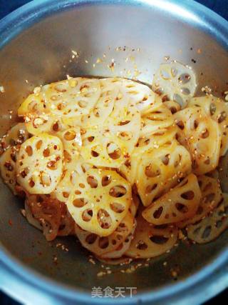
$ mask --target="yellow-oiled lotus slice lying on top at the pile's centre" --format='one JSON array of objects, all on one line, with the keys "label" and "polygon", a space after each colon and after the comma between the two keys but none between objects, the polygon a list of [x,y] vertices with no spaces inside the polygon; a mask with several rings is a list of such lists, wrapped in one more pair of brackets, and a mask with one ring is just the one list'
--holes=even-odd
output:
[{"label": "yellow-oiled lotus slice lying on top at the pile's centre", "polygon": [[105,127],[87,129],[82,135],[81,155],[95,166],[118,168],[133,151],[139,131],[140,114],[134,109],[109,117]]}]

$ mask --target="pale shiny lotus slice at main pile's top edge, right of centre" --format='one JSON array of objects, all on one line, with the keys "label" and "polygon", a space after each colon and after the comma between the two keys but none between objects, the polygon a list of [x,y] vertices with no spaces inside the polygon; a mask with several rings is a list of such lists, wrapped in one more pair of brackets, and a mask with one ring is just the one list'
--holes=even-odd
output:
[{"label": "pale shiny lotus slice at main pile's top edge, right of centre", "polygon": [[[130,79],[122,78],[108,78],[100,79],[101,86],[103,82],[113,84],[118,87],[118,97],[116,103],[125,104],[127,106],[128,102],[136,106],[140,114],[150,109],[155,103],[155,93],[144,84],[140,84],[136,81],[131,81]],[[126,104],[127,102],[127,104]]]}]

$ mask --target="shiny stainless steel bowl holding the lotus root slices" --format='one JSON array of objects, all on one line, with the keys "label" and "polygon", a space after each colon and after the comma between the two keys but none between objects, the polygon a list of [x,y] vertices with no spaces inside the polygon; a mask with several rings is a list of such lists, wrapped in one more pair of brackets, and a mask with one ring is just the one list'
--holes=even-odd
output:
[{"label": "shiny stainless steel bowl holding the lotus root slices", "polygon": [[[66,74],[125,75],[135,69],[133,57],[140,81],[150,83],[163,57],[170,56],[193,67],[199,93],[204,85],[215,88],[217,95],[227,89],[228,23],[190,0],[32,1],[0,21],[0,46],[0,84],[5,89],[0,95],[2,134],[34,86],[64,79]],[[72,59],[71,50],[80,56]],[[93,68],[98,58],[105,62]],[[112,59],[114,72],[108,68]],[[9,110],[14,110],[12,119]],[[113,267],[112,274],[98,278],[100,264],[90,264],[75,239],[47,243],[27,224],[19,212],[21,203],[2,183],[0,191],[0,284],[20,301],[199,304],[227,286],[227,233],[204,246],[180,245],[132,274]],[[68,247],[68,253],[56,248],[58,242]],[[57,264],[53,256],[58,257]],[[174,281],[170,269],[177,266]],[[132,299],[92,299],[93,286],[136,286],[138,294]]]}]

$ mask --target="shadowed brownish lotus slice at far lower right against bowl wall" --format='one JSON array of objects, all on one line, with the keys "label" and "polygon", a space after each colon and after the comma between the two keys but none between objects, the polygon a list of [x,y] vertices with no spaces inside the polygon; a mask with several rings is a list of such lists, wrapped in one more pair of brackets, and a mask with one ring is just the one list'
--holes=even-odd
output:
[{"label": "shadowed brownish lotus slice at far lower right against bowl wall", "polygon": [[205,244],[216,239],[228,227],[228,194],[223,194],[224,200],[214,209],[212,214],[197,224],[187,226],[187,236],[197,244]]}]

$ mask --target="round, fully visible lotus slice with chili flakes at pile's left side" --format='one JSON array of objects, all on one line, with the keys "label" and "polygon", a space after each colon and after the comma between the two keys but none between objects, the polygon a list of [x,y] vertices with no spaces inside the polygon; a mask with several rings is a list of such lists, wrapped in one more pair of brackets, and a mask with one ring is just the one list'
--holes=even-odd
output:
[{"label": "round, fully visible lotus slice with chili flakes at pile's left side", "polygon": [[18,183],[29,194],[49,194],[63,173],[63,144],[57,136],[40,134],[27,139],[16,161]]}]

